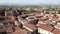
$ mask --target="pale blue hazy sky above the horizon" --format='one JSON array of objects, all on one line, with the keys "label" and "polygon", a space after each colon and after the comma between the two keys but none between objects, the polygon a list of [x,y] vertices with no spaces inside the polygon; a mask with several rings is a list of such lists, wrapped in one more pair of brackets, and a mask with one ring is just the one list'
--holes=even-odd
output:
[{"label": "pale blue hazy sky above the horizon", "polygon": [[0,0],[0,5],[60,5],[60,0]]}]

